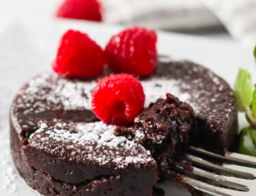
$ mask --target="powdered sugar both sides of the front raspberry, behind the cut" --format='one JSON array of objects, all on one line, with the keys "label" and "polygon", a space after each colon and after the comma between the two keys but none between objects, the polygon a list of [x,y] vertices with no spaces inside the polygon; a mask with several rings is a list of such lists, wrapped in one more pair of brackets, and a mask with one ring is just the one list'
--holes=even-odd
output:
[{"label": "powdered sugar both sides of the front raspberry, behind the cut", "polygon": [[[190,103],[194,110],[197,110],[197,105],[193,105],[193,101],[191,101],[191,95],[181,90],[190,88],[182,80],[153,77],[150,80],[142,80],[141,84],[146,97],[145,107],[158,98],[165,98],[166,93],[171,93],[181,101]],[[43,73],[33,78],[27,88],[20,91],[17,106],[25,108],[25,114],[59,109],[91,110],[91,92],[95,86],[95,80],[70,80],[60,78],[53,73]]]}]

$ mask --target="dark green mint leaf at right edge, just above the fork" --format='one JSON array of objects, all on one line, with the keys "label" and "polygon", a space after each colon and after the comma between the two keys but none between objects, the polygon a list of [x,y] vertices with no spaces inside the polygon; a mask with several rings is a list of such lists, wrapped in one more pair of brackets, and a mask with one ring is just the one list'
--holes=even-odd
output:
[{"label": "dark green mint leaf at right edge, just above the fork", "polygon": [[246,127],[242,129],[239,152],[256,157],[256,129]]}]

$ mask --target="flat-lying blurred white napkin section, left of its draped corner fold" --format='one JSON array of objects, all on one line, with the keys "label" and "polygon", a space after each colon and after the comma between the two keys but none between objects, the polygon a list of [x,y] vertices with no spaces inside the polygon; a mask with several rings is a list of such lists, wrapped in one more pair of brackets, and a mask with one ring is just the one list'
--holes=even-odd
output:
[{"label": "flat-lying blurred white napkin section, left of its draped corner fold", "polygon": [[104,21],[160,29],[198,29],[220,25],[200,0],[101,0]]}]

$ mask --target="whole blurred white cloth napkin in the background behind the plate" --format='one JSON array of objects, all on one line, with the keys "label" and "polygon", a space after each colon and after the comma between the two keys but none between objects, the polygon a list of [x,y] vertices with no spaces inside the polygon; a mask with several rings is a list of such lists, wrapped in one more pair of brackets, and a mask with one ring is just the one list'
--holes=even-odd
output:
[{"label": "whole blurred white cloth napkin in the background behind the plate", "polygon": [[220,26],[256,44],[256,0],[101,0],[104,21],[160,29]]}]

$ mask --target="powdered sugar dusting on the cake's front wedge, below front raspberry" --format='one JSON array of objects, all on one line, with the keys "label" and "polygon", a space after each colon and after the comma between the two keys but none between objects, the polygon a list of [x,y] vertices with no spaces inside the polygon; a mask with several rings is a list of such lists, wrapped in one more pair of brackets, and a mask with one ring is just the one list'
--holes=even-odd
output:
[{"label": "powdered sugar dusting on the cake's front wedge, below front raspberry", "polygon": [[115,168],[155,164],[143,146],[126,137],[115,136],[114,131],[115,126],[104,122],[80,122],[68,126],[66,123],[51,125],[43,122],[40,129],[31,135],[29,144],[68,157],[70,161],[96,162],[102,167],[108,167],[109,163]]}]

